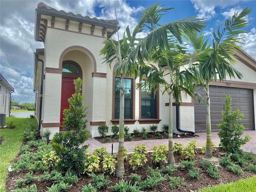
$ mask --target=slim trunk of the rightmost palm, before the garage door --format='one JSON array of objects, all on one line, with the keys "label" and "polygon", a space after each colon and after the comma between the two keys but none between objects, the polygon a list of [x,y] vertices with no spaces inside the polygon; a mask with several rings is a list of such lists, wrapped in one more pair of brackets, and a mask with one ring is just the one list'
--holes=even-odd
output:
[{"label": "slim trunk of the rightmost palm, before the garage door", "polygon": [[205,158],[212,158],[212,128],[210,113],[209,83],[206,82],[206,150]]}]

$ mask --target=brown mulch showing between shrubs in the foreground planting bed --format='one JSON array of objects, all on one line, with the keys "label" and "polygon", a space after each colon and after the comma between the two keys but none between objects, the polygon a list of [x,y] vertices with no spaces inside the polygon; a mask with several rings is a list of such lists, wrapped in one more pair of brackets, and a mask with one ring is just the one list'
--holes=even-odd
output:
[{"label": "brown mulch showing between shrubs in the foreground planting bed", "polygon": [[[148,162],[146,163],[146,165],[142,168],[139,168],[137,171],[134,171],[130,168],[129,162],[125,161],[124,162],[124,167],[125,167],[125,175],[122,178],[117,178],[115,176],[110,176],[109,179],[111,180],[111,183],[109,186],[113,186],[116,183],[118,183],[119,180],[126,180],[129,181],[130,178],[130,174],[131,173],[136,173],[138,175],[141,176],[142,180],[145,180],[147,178],[147,170],[148,170],[148,166],[152,166],[153,168],[155,168],[156,166],[154,165],[154,163],[152,162],[152,160],[150,159],[151,153],[147,154],[147,158],[148,158]],[[187,187],[184,186],[180,186],[179,188],[170,188],[169,187],[169,179],[167,179],[166,181],[162,182],[159,186],[156,187],[156,189],[154,190],[147,190],[147,192],[190,192],[190,190],[198,190],[198,188],[201,188],[203,186],[214,186],[214,185],[218,185],[220,183],[229,183],[229,182],[234,182],[237,180],[240,180],[242,178],[249,178],[252,177],[254,175],[256,175],[256,173],[252,173],[252,172],[246,172],[244,171],[243,174],[241,175],[237,175],[234,174],[233,172],[228,171],[226,168],[218,165],[218,161],[219,158],[221,156],[224,156],[223,153],[220,152],[216,152],[214,153],[214,157],[212,159],[212,165],[216,165],[218,166],[219,172],[221,174],[221,177],[218,179],[214,179],[214,178],[210,178],[210,176],[208,175],[207,170],[203,170],[200,166],[200,162],[204,159],[204,155],[200,154],[198,152],[198,154],[196,154],[196,156],[194,157],[193,160],[197,160],[196,162],[196,167],[200,168],[200,174],[202,174],[202,177],[199,180],[189,180],[188,179],[188,171],[187,170],[183,170],[181,166],[179,166],[179,162],[180,160],[182,160],[180,155],[175,155],[175,161],[176,164],[179,166],[178,170],[176,170],[174,172],[174,174],[172,175],[173,177],[177,177],[180,176],[180,178],[184,178],[185,182],[188,184]],[[8,172],[8,178],[6,180],[6,192],[11,192],[11,190],[15,189],[16,186],[16,181],[19,178],[25,178],[25,175],[28,173],[28,170],[22,170],[21,172]],[[35,172],[34,173],[36,176],[40,176],[43,173],[42,172]],[[100,174],[100,173],[98,173]],[[85,185],[88,185],[90,182],[92,182],[92,178],[90,176],[88,176],[87,174],[84,174],[82,176],[79,177],[79,182],[77,184],[73,184],[73,186],[67,190],[68,192],[82,192],[82,188]],[[38,192],[45,192],[47,191],[50,186],[52,185],[50,182],[47,182],[45,180],[42,181],[38,181],[37,179],[34,180],[34,182],[32,184],[36,184]],[[32,185],[29,184],[28,186]],[[26,187],[26,186],[24,186]],[[112,192],[112,189],[110,188],[105,188],[102,190],[97,190],[98,192]]]}]

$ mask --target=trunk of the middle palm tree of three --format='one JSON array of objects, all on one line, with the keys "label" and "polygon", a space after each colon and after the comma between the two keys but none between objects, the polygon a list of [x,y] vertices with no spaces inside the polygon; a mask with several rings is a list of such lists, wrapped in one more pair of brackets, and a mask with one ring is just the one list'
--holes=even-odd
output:
[{"label": "trunk of the middle palm tree of three", "polygon": [[173,138],[172,138],[172,86],[170,87],[169,93],[169,129],[168,129],[168,164],[175,165],[175,159],[173,154]]}]

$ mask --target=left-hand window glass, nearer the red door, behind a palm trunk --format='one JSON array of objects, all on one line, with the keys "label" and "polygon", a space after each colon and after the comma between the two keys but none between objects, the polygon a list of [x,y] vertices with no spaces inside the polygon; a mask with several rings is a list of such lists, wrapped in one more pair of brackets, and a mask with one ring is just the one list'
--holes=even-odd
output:
[{"label": "left-hand window glass, nearer the red door, behind a palm trunk", "polygon": [[[132,79],[124,78],[124,118],[132,119]],[[120,114],[120,78],[115,78],[114,118]]]}]

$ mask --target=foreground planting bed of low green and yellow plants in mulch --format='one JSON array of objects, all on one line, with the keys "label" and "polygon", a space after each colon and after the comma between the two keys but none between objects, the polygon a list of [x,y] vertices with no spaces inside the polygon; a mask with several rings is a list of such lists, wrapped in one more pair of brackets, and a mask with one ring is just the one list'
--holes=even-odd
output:
[{"label": "foreground planting bed of low green and yellow plants in mulch", "polygon": [[[44,142],[44,144],[43,144]],[[28,146],[26,146],[28,145]],[[104,148],[95,150],[95,153],[102,154],[102,159],[97,166],[92,166],[94,172],[90,170],[84,170],[84,174],[76,177],[75,175],[65,175],[64,172],[60,172],[54,169],[54,166],[46,166],[45,170],[34,170],[35,166],[39,166],[42,162],[44,154],[49,153],[52,148],[46,150],[47,145],[45,140],[37,140],[34,142],[27,142],[21,148],[22,153],[14,159],[13,165],[17,164],[24,158],[24,154],[32,156],[34,153],[34,161],[28,162],[27,168],[20,169],[19,172],[9,172],[7,178],[6,191],[18,192],[23,190],[30,191],[67,191],[67,192],[112,192],[112,191],[158,191],[158,192],[177,192],[184,191],[190,192],[190,190],[198,190],[202,187],[210,185],[215,186],[222,182],[228,183],[237,181],[242,178],[248,178],[255,176],[255,154],[245,153],[241,156],[250,157],[246,159],[246,164],[239,165],[243,173],[232,172],[227,166],[235,164],[236,160],[232,158],[232,154],[225,155],[218,150],[214,152],[214,161],[208,161],[204,159],[204,154],[200,149],[196,149],[195,156],[192,160],[182,158],[181,154],[175,155],[176,166],[167,165],[164,161],[155,162],[155,155],[152,152],[146,152],[145,146],[140,145],[134,148],[133,154],[144,154],[146,158],[146,164],[137,166],[133,169],[130,160],[133,154],[128,154],[127,159],[124,161],[126,174],[122,178],[117,178],[113,173],[111,162],[116,163],[115,159],[111,155],[106,155]],[[25,146],[25,147],[24,147]],[[90,146],[89,146],[90,147]],[[44,150],[43,150],[44,149]],[[162,149],[163,152],[158,152]],[[160,154],[161,159],[163,154],[168,156],[165,152],[164,146],[155,146],[155,152]],[[91,156],[94,156],[95,153]],[[168,152],[167,152],[168,153]],[[25,156],[26,156],[25,155]],[[90,157],[90,155],[88,155]],[[104,168],[104,157],[107,157]],[[113,157],[116,157],[115,154]],[[88,163],[95,163],[95,159],[88,158]],[[225,163],[223,163],[223,161]],[[50,161],[49,161],[50,162]],[[48,162],[48,163],[49,163]],[[210,165],[209,165],[210,162]],[[220,162],[220,163],[219,163]],[[53,164],[53,162],[52,162]],[[222,164],[223,166],[220,166]],[[15,166],[14,166],[15,167]],[[104,171],[105,169],[105,171]],[[66,179],[64,179],[66,177]],[[77,179],[76,179],[77,178]],[[253,178],[252,178],[253,180]],[[250,183],[250,180],[248,181]],[[18,186],[21,186],[18,188]],[[33,190],[29,190],[32,188]],[[36,190],[35,190],[36,188]],[[126,190],[121,190],[126,189]]]}]

